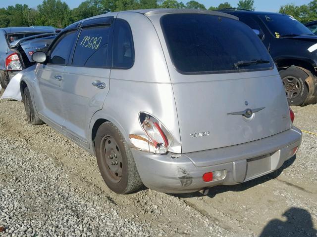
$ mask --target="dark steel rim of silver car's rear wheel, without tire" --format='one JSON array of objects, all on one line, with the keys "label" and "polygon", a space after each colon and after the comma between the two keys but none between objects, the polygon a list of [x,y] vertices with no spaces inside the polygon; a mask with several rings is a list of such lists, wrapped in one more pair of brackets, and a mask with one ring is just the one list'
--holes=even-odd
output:
[{"label": "dark steel rim of silver car's rear wheel, without tire", "polygon": [[103,160],[106,166],[108,177],[111,182],[118,183],[122,178],[122,155],[118,144],[110,135],[104,136],[103,140]]}]

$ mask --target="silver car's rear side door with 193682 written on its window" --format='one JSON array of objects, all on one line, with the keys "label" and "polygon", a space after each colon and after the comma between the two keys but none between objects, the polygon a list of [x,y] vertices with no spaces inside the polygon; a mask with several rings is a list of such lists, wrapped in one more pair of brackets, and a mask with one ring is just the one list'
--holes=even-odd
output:
[{"label": "silver car's rear side door with 193682 written on its window", "polygon": [[109,90],[113,17],[82,23],[73,58],[63,75],[63,130],[88,146],[89,124]]}]

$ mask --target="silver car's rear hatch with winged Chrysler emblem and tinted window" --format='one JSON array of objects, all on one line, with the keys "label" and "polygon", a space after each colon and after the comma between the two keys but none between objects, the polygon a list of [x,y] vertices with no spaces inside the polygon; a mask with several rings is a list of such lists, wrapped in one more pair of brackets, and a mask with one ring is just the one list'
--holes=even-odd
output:
[{"label": "silver car's rear hatch with winged Chrysler emblem and tinted window", "polygon": [[291,127],[281,79],[249,27],[208,14],[168,14],[161,26],[183,153],[246,143]]}]

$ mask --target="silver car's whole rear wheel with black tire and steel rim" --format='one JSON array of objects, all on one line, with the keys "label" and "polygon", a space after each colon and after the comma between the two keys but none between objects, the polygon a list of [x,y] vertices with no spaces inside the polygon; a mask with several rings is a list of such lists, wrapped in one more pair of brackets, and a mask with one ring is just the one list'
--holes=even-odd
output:
[{"label": "silver car's whole rear wheel with black tire and steel rim", "polygon": [[132,152],[113,123],[104,122],[98,128],[95,144],[99,170],[109,189],[129,194],[143,186]]}]

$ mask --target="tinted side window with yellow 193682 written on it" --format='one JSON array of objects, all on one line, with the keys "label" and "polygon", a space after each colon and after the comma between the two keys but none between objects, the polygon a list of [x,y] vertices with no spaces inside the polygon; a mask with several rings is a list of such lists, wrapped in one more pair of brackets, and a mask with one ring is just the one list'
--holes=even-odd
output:
[{"label": "tinted side window with yellow 193682 written on it", "polygon": [[81,30],[73,57],[73,66],[108,67],[110,26],[88,27]]}]

